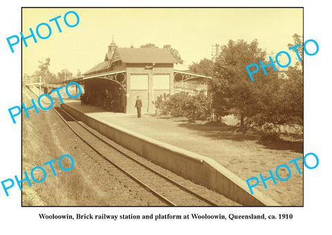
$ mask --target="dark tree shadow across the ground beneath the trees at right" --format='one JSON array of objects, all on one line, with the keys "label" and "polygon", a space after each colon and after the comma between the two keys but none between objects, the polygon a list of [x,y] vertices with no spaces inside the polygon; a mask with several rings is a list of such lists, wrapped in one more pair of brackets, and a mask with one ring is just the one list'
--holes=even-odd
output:
[{"label": "dark tree shadow across the ground beneath the trees at right", "polygon": [[[185,120],[183,121],[184,122],[178,124],[178,126],[198,131],[199,135],[211,138],[213,140],[234,140],[239,142],[254,140],[257,142],[257,144],[261,144],[267,149],[289,150],[297,153],[303,153],[302,141],[288,141],[282,139],[259,140],[259,135],[250,132],[243,134],[241,131],[239,131],[239,127],[237,126],[212,126],[208,124],[187,123]],[[180,122],[180,120],[177,122]]]}]

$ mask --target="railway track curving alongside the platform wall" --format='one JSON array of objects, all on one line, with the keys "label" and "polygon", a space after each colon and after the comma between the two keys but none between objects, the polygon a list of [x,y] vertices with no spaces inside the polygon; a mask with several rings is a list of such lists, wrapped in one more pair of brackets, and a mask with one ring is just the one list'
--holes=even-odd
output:
[{"label": "railway track curving alongside the platform wall", "polygon": [[167,205],[218,206],[211,198],[197,194],[192,187],[189,189],[181,182],[169,178],[165,173],[160,173],[156,167],[148,166],[152,164],[151,162],[147,163],[147,160],[136,158],[136,154],[128,150],[124,151],[104,135],[83,122],[75,120],[62,108],[55,107],[53,110],[81,140],[95,151],[96,155],[122,171]]}]

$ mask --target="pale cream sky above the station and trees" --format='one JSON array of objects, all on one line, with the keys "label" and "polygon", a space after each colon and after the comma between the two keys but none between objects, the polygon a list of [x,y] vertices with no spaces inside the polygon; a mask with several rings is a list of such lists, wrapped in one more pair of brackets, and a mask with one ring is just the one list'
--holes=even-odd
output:
[{"label": "pale cream sky above the station and trees", "polygon": [[[66,12],[73,10],[80,17],[77,26],[64,23]],[[302,8],[24,8],[22,33],[36,35],[39,23],[58,19],[62,32],[55,22],[48,22],[52,32],[48,39],[26,39],[22,46],[22,72],[32,75],[38,61],[50,58],[50,72],[57,74],[67,68],[74,75],[82,73],[104,61],[108,46],[114,37],[119,47],[135,48],[153,43],[162,48],[172,45],[184,60],[187,69],[192,62],[211,59],[212,44],[221,46],[230,39],[252,41],[268,53],[288,50],[292,35],[303,35]],[[76,18],[68,14],[68,23]],[[40,35],[48,35],[46,26],[39,28]],[[292,55],[292,64],[293,64]],[[255,63],[255,62],[252,62]]]}]

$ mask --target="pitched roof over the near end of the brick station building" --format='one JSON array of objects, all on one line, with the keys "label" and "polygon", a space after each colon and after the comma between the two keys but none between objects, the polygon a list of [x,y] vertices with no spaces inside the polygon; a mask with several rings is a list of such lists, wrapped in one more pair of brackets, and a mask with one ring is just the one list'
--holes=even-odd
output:
[{"label": "pitched roof over the near end of the brick station building", "polygon": [[[175,57],[164,48],[116,48],[122,63],[127,64],[174,64]],[[115,53],[114,53],[115,54]]]}]

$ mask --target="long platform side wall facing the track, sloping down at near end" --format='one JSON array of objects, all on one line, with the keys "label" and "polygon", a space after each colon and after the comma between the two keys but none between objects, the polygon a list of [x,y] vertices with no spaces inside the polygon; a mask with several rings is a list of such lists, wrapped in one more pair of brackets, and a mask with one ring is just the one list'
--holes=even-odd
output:
[{"label": "long platform side wall facing the track, sloping down at near end", "polygon": [[123,147],[184,178],[218,191],[241,205],[279,206],[257,189],[254,189],[254,195],[250,194],[244,180],[211,158],[148,138],[120,126],[107,124],[103,120],[91,118],[89,114],[85,115],[67,104],[62,104],[62,107],[73,117],[82,120]]}]

